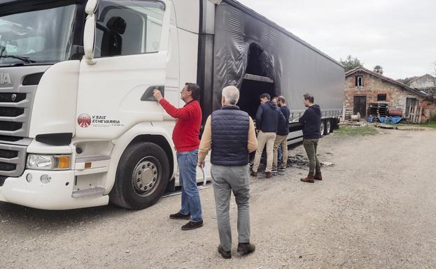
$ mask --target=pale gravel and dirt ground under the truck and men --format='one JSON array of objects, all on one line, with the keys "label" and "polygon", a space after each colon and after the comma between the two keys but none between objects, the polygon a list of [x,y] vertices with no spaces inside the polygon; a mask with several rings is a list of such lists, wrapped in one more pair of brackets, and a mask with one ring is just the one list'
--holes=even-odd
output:
[{"label": "pale gravel and dirt ground under the truck and men", "polygon": [[168,218],[180,196],[136,212],[0,203],[0,268],[436,268],[436,130],[379,131],[322,138],[321,161],[335,163],[322,182],[300,182],[296,167],[252,179],[249,256],[236,252],[234,202],[232,259],[216,252],[209,184],[194,231]]}]

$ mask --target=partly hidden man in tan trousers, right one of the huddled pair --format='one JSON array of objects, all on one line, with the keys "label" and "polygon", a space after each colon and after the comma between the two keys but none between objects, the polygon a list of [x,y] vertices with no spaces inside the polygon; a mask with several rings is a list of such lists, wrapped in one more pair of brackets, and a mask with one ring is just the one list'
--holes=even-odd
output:
[{"label": "partly hidden man in tan trousers, right one of the huddled pair", "polygon": [[[282,119],[279,122],[279,129],[277,129],[276,140],[274,140],[274,150],[273,156],[274,159],[272,161],[272,170],[276,172],[277,170],[283,172],[286,170],[286,164],[288,162],[288,133],[289,133],[289,116],[290,111],[286,106],[286,99],[283,96],[277,97],[277,104],[279,105],[280,111],[284,116],[284,120]],[[279,147],[281,147],[281,166],[278,168],[278,157],[279,157]]]}]

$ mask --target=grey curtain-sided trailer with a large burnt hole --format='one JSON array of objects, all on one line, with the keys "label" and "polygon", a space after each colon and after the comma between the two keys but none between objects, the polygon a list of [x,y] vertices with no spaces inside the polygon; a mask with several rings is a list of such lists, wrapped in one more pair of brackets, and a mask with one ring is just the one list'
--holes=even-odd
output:
[{"label": "grey curtain-sided trailer with a large burnt hole", "polygon": [[220,108],[221,89],[236,85],[241,91],[238,105],[251,117],[260,94],[286,97],[289,143],[302,138],[297,122],[306,109],[302,99],[307,92],[321,106],[324,134],[337,126],[342,115],[342,64],[237,1],[202,1],[200,14],[199,82],[203,89],[213,89],[202,96],[206,115]]}]

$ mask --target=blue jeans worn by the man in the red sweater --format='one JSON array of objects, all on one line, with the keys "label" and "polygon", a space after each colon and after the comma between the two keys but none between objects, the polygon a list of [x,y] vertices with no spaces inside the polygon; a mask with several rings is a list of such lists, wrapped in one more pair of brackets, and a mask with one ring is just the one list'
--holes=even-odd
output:
[{"label": "blue jeans worn by the man in the red sweater", "polygon": [[191,221],[202,220],[202,203],[197,188],[198,150],[191,152],[177,152],[178,180],[182,187],[183,215],[191,215]]}]

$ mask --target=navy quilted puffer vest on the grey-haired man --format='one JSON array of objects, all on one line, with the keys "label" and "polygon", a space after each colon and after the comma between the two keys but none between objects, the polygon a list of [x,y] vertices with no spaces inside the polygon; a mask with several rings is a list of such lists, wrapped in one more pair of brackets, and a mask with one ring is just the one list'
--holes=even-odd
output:
[{"label": "navy quilted puffer vest on the grey-haired man", "polygon": [[211,163],[217,166],[248,164],[248,129],[250,117],[237,106],[223,106],[211,115]]}]

